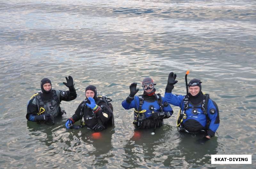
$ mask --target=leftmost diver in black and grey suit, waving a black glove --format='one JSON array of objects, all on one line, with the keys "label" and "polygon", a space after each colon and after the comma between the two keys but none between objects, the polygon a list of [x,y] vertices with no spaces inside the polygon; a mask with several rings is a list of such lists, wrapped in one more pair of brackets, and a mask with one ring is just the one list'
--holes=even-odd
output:
[{"label": "leftmost diver in black and grey suit, waving a black glove", "polygon": [[60,108],[60,102],[71,101],[76,98],[76,89],[74,88],[73,78],[66,77],[67,83],[63,82],[69,88],[69,91],[53,90],[52,82],[44,78],[41,80],[41,92],[33,95],[27,105],[26,118],[32,122],[43,122],[54,124],[54,118],[66,113]]}]

